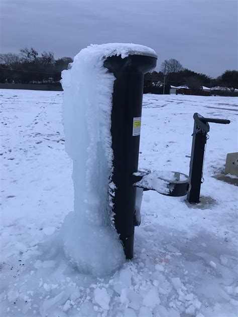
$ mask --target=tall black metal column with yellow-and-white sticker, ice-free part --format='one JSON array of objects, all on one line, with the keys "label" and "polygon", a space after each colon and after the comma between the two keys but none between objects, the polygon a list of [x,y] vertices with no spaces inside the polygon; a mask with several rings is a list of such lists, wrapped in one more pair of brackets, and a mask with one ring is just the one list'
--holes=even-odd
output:
[{"label": "tall black metal column with yellow-and-white sticker, ice-free part", "polygon": [[144,74],[156,67],[156,56],[113,56],[104,66],[115,76],[111,136],[113,149],[112,182],[115,228],[122,240],[126,258],[133,258],[136,191],[133,173],[138,171]]}]

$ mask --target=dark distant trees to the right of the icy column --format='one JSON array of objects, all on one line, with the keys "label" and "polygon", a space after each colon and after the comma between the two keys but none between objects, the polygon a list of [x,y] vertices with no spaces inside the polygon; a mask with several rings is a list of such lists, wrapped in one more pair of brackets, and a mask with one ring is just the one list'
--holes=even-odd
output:
[{"label": "dark distant trees to the right of the icy column", "polygon": [[205,74],[196,73],[187,68],[183,68],[181,63],[175,59],[165,60],[161,64],[159,72],[153,71],[145,75],[146,90],[153,87],[161,87],[163,89],[170,86],[186,85],[190,89],[201,89],[202,86],[208,88],[214,86],[227,87],[230,91],[238,89],[238,71],[226,70],[217,78],[211,78]]}]

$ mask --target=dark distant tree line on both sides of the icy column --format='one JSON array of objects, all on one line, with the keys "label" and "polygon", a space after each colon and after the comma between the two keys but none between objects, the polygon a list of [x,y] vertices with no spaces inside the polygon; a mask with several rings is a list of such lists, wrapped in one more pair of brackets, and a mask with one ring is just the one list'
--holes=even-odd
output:
[{"label": "dark distant tree line on both sides of the icy column", "polygon": [[[37,52],[33,48],[21,49],[19,54],[0,54],[0,82],[22,84],[57,84],[61,72],[72,62],[71,57],[55,59],[52,52]],[[205,74],[196,73],[183,68],[176,59],[165,60],[159,72],[153,71],[145,75],[144,91],[164,89],[169,92],[170,86],[187,85],[191,89],[201,89],[202,86],[227,87],[230,91],[238,89],[238,71],[226,70],[213,79]]]}]

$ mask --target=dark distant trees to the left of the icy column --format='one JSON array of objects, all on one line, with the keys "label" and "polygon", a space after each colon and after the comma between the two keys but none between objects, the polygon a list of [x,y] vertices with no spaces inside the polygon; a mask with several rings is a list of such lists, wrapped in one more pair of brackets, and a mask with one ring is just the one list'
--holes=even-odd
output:
[{"label": "dark distant trees to the left of the icy column", "polygon": [[68,68],[71,57],[55,59],[52,52],[21,49],[19,54],[0,54],[0,82],[21,84],[56,84],[61,71]]}]

